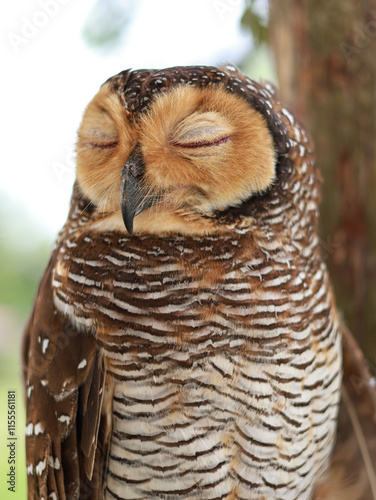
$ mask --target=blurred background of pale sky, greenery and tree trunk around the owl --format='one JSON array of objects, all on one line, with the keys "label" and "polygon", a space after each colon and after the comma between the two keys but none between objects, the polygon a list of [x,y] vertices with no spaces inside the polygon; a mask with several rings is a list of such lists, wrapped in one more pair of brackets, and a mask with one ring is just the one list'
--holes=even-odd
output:
[{"label": "blurred background of pale sky, greenery and tree trunk around the owl", "polygon": [[[76,130],[123,69],[229,62],[280,87],[315,140],[339,309],[376,364],[376,0],[19,0],[0,11],[1,498],[26,498],[20,344],[67,215]],[[16,495],[4,486],[13,389]]]}]

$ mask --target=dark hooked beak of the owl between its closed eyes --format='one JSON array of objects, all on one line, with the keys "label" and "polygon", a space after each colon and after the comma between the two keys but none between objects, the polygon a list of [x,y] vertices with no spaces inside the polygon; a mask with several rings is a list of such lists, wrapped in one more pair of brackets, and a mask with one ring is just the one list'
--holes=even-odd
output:
[{"label": "dark hooked beak of the owl between its closed eyes", "polygon": [[133,233],[133,219],[156,203],[156,198],[146,195],[144,189],[145,165],[141,148],[136,146],[121,169],[120,208],[124,225]]}]

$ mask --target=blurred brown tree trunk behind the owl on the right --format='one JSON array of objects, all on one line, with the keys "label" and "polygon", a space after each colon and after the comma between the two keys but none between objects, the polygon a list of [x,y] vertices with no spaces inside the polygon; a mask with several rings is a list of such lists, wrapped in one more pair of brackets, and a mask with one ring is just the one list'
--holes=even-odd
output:
[{"label": "blurred brown tree trunk behind the owl on the right", "polygon": [[321,242],[337,306],[376,365],[376,0],[270,0],[281,99],[324,178]]}]

